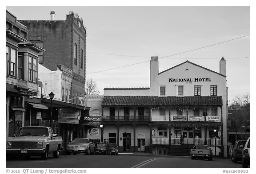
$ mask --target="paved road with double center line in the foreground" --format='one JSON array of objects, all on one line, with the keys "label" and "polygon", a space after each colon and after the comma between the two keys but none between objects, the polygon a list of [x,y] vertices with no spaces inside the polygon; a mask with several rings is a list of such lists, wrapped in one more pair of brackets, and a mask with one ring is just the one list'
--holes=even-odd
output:
[{"label": "paved road with double center line in the foreground", "polygon": [[241,162],[214,158],[212,161],[189,157],[144,155],[60,155],[47,160],[40,157],[6,161],[6,168],[242,168]]}]

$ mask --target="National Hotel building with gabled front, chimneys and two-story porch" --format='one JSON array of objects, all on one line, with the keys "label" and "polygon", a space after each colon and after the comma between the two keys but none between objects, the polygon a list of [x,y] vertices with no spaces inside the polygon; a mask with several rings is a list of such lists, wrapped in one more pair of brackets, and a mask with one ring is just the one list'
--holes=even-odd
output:
[{"label": "National Hotel building with gabled front, chimneys and two-story porch", "polygon": [[224,58],[220,72],[189,61],[159,72],[152,57],[150,88],[104,89],[101,140],[156,155],[189,155],[207,144],[227,157],[227,101]]}]

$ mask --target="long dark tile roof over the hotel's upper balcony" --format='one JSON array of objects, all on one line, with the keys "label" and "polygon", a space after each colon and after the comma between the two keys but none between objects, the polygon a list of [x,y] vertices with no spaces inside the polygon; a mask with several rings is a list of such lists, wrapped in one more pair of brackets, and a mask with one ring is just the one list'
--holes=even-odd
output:
[{"label": "long dark tile roof over the hotel's upper balcony", "polygon": [[222,105],[221,96],[104,96],[102,106]]}]

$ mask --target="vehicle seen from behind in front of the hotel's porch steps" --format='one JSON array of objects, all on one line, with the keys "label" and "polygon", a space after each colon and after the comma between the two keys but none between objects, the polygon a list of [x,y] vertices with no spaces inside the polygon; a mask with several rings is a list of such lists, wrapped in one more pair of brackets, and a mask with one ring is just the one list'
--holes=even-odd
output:
[{"label": "vehicle seen from behind in front of the hotel's porch steps", "polygon": [[212,149],[206,145],[195,145],[190,151],[191,159],[202,158],[212,160]]}]

